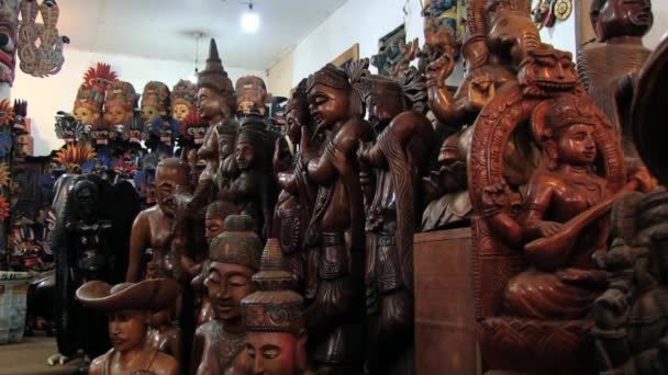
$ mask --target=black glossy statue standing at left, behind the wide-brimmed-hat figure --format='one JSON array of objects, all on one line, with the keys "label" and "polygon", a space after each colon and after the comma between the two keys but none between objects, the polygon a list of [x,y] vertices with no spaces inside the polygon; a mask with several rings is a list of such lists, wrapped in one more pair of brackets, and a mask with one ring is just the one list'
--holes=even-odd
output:
[{"label": "black glossy statue standing at left, behind the wide-brimmed-hat figure", "polygon": [[107,350],[104,317],[84,311],[74,295],[91,280],[122,280],[130,226],[138,212],[136,193],[127,182],[111,185],[92,174],[64,174],[54,192],[56,226],[51,250],[56,261],[59,354],[49,357],[51,364],[64,363],[79,349],[90,356]]}]

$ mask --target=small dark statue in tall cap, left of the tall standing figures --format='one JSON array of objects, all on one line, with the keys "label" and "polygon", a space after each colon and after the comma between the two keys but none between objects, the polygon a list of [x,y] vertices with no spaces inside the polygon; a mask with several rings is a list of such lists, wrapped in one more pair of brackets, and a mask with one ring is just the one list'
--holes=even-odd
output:
[{"label": "small dark statue in tall cap, left of the tall standing figures", "polygon": [[271,232],[276,204],[271,154],[268,152],[270,146],[263,117],[256,114],[246,116],[238,129],[234,154],[238,174],[227,186],[221,186],[218,195],[219,200],[238,205],[243,214],[250,216],[264,238]]}]

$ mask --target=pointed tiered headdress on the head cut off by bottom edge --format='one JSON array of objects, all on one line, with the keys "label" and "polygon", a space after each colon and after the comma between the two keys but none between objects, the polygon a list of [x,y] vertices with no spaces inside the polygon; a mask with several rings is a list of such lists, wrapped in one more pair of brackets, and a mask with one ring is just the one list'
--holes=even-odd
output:
[{"label": "pointed tiered headdress on the head cut off by bottom edge", "polygon": [[291,291],[296,277],[287,272],[278,239],[270,238],[263,253],[261,268],[253,276],[259,291],[242,300],[242,314],[247,331],[303,331],[303,298]]}]

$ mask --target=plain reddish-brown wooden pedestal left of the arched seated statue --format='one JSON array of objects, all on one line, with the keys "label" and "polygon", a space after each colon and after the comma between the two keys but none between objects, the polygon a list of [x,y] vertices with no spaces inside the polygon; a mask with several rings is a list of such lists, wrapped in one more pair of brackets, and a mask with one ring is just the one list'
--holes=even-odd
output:
[{"label": "plain reddish-brown wooden pedestal left of the arched seated statue", "polygon": [[414,238],[417,375],[480,373],[470,228]]}]

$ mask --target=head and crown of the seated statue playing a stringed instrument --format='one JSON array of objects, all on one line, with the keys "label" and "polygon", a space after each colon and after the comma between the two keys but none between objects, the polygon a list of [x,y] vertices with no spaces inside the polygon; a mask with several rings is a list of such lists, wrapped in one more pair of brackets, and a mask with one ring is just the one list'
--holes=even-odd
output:
[{"label": "head and crown of the seated statue playing a stringed instrument", "polygon": [[574,94],[559,95],[538,104],[532,114],[532,134],[543,150],[546,167],[555,170],[563,164],[593,164],[598,123],[593,109]]}]

